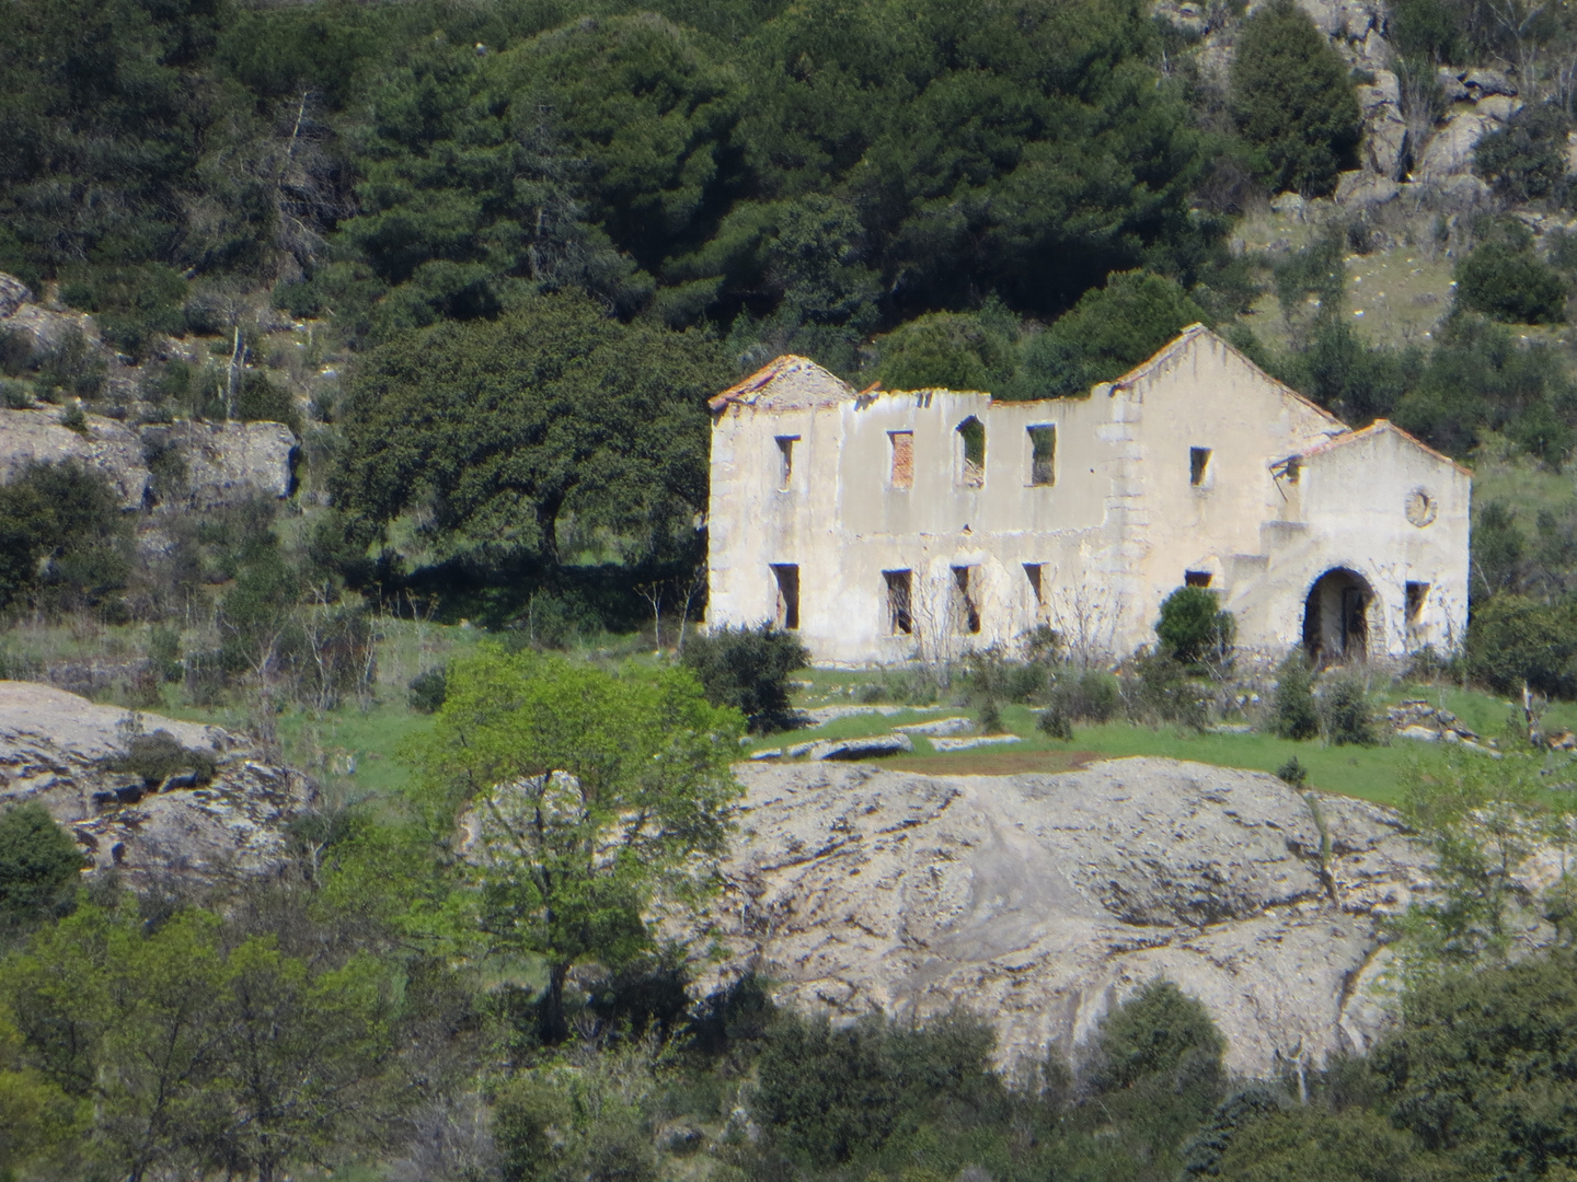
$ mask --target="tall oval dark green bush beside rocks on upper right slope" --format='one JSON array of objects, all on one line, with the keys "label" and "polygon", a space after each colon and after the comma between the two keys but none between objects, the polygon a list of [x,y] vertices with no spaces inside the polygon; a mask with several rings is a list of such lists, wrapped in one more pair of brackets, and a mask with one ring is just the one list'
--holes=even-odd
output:
[{"label": "tall oval dark green bush beside rocks on upper right slope", "polygon": [[1363,115],[1347,66],[1292,0],[1243,22],[1230,104],[1273,191],[1323,195],[1337,172],[1356,167]]}]

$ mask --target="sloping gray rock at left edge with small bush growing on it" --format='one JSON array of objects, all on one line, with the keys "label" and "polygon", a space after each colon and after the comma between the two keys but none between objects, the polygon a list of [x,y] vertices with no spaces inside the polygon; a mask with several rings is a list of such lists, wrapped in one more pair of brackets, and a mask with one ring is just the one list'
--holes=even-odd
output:
[{"label": "sloping gray rock at left edge with small bush growing on it", "polygon": [[128,711],[25,681],[0,681],[0,807],[38,801],[71,829],[98,868],[118,865],[132,881],[169,872],[203,878],[259,872],[284,856],[284,824],[317,790],[289,768],[263,761],[246,741],[216,727],[140,717],[183,747],[219,761],[211,783],[144,794],[142,782],[107,772],[125,750]]}]

